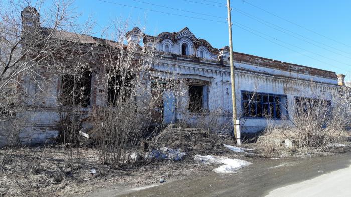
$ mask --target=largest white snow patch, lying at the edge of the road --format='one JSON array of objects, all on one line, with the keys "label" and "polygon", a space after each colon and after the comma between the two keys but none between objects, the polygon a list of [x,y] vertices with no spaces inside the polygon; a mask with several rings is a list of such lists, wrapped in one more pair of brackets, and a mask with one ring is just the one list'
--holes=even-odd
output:
[{"label": "largest white snow patch, lying at the edge of the road", "polygon": [[224,156],[212,156],[212,155],[201,156],[199,154],[194,156],[194,161],[198,163],[203,163],[205,165],[224,164],[212,170],[216,173],[221,173],[221,174],[235,173],[238,169],[252,164],[250,162],[240,160],[240,159],[230,159]]}]

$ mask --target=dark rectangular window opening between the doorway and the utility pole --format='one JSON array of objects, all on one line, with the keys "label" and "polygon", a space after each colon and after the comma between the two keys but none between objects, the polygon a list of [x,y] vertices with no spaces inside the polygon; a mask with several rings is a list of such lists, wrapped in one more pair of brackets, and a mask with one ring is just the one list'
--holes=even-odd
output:
[{"label": "dark rectangular window opening between the doorway and the utility pole", "polygon": [[203,86],[189,86],[189,111],[201,112],[203,109]]}]

